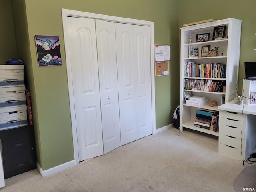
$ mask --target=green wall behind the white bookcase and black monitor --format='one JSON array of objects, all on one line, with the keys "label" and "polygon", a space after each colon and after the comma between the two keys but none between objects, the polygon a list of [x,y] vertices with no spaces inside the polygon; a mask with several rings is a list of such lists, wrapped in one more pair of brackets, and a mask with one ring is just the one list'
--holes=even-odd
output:
[{"label": "green wall behind the white bookcase and black monitor", "polygon": [[[242,20],[239,79],[244,78],[244,62],[256,61],[255,0],[179,0],[179,25],[210,18],[236,18]],[[196,14],[192,14],[198,10]],[[239,82],[242,94],[242,81]]]}]

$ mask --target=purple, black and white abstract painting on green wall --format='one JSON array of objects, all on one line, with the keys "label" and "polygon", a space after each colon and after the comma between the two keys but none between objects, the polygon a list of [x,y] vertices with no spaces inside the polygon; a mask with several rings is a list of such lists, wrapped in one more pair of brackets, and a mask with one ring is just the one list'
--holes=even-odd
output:
[{"label": "purple, black and white abstract painting on green wall", "polygon": [[38,66],[61,65],[59,36],[35,35]]}]

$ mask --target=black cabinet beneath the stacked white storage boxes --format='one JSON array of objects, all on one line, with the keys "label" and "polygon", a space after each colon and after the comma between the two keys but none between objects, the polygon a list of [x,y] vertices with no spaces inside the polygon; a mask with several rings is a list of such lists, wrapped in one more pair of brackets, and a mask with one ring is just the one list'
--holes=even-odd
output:
[{"label": "black cabinet beneath the stacked white storage boxes", "polygon": [[0,130],[4,178],[36,168],[36,145],[33,126]]}]

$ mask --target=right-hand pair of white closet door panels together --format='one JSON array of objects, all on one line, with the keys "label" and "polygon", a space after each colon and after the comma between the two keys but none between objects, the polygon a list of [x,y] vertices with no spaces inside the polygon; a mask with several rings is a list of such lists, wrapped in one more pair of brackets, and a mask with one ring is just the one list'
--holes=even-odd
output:
[{"label": "right-hand pair of white closet door panels together", "polygon": [[152,134],[150,30],[116,23],[121,144]]}]

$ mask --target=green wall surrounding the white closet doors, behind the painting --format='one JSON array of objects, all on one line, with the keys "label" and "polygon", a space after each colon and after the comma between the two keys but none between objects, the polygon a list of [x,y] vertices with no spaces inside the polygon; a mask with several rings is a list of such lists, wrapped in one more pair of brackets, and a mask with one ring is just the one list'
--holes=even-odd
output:
[{"label": "green wall surrounding the white closet doors, behind the painting", "polygon": [[[38,164],[74,159],[61,8],[154,22],[155,44],[171,46],[170,75],[155,78],[156,128],[172,122],[179,102],[178,0],[10,0],[18,56],[32,92]],[[19,30],[17,30],[19,29]],[[34,35],[60,37],[62,66],[38,67]]]}]

